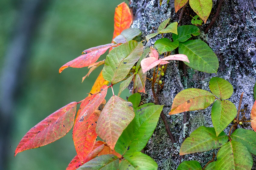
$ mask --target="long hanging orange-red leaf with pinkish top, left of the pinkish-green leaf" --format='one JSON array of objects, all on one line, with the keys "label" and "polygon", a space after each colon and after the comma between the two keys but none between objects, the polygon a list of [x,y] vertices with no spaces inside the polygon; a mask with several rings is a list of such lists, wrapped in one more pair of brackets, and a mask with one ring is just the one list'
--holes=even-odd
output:
[{"label": "long hanging orange-red leaf with pinkish top, left of the pinkish-green leaf", "polygon": [[[97,134],[95,127],[99,118],[99,112],[102,110],[106,100],[104,99],[107,94],[107,85],[102,86],[100,93],[86,105],[87,100],[84,100],[82,106],[80,106],[81,112],[78,113],[78,117],[75,121],[73,128],[73,140],[77,155],[81,162],[89,155],[95,144]],[[103,104],[102,104],[103,102]],[[82,108],[84,107],[84,108]],[[96,110],[96,109],[99,110]]]}]

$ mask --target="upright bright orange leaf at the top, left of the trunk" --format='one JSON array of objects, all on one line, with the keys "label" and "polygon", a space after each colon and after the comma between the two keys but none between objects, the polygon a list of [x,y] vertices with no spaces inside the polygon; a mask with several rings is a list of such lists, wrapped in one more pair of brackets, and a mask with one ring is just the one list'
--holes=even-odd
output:
[{"label": "upright bright orange leaf at the top, left of the trunk", "polygon": [[114,16],[114,34],[113,39],[120,35],[121,32],[127,28],[130,28],[132,24],[132,14],[125,2],[122,2],[116,7]]}]

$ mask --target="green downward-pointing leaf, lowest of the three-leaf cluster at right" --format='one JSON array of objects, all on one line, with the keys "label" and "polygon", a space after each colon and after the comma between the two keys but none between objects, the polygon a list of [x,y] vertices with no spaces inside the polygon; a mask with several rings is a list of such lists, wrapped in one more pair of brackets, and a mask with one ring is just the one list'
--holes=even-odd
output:
[{"label": "green downward-pointing leaf, lowest of the three-leaf cluster at right", "polygon": [[217,136],[236,117],[236,106],[229,100],[216,100],[212,106],[212,124]]}]

